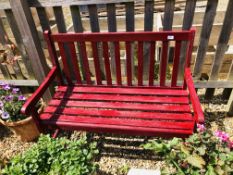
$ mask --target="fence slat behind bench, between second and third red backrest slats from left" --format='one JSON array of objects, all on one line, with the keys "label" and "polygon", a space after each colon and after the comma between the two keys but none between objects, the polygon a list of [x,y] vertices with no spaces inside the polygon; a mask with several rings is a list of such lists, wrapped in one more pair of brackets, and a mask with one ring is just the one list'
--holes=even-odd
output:
[{"label": "fence slat behind bench, between second and third red backrest slats from left", "polygon": [[[70,11],[71,11],[71,16],[73,20],[74,31],[78,33],[82,33],[83,24],[82,24],[79,6],[70,6]],[[86,80],[86,74],[85,74],[84,63],[83,63],[83,55],[81,52],[80,43],[77,43],[77,48],[78,48],[78,56],[79,56],[79,61],[81,65],[80,68],[81,68],[82,76],[83,76],[83,79]]]}]

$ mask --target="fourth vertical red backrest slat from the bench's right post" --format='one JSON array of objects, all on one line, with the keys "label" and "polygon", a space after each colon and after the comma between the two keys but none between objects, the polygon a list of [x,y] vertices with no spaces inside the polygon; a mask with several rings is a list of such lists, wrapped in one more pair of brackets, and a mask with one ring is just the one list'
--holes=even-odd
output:
[{"label": "fourth vertical red backrest slat from the bench's right post", "polygon": [[138,42],[138,86],[143,86],[143,42]]}]

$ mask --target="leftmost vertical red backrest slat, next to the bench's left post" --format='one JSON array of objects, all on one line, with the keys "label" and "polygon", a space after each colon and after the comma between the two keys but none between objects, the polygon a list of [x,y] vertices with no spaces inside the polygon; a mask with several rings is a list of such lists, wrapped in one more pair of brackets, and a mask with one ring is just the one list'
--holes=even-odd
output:
[{"label": "leftmost vertical red backrest slat, next to the bench's left post", "polygon": [[[68,66],[68,59],[67,59],[67,54],[66,52],[68,50],[65,50],[65,44],[64,43],[61,43],[59,42],[58,43],[58,47],[59,47],[59,50],[60,50],[60,54],[61,54],[61,58],[62,58],[62,62],[63,62],[63,69],[64,69],[64,73],[65,73],[65,77],[66,77],[66,80],[68,82],[69,85],[72,85],[72,80],[73,78],[71,78],[71,70],[69,69],[69,66]],[[67,45],[66,45],[66,49],[67,49]]]}]

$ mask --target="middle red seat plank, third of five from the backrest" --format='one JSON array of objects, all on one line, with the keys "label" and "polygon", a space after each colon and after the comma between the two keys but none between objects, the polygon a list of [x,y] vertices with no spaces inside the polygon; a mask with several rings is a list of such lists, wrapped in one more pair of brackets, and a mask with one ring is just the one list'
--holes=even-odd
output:
[{"label": "middle red seat plank, third of five from the backrest", "polygon": [[142,111],[164,111],[164,112],[190,112],[189,105],[161,105],[161,104],[141,104],[141,103],[122,103],[122,102],[87,102],[73,100],[51,100],[50,106],[66,105],[69,107],[82,108],[104,108],[121,110],[142,110]]}]

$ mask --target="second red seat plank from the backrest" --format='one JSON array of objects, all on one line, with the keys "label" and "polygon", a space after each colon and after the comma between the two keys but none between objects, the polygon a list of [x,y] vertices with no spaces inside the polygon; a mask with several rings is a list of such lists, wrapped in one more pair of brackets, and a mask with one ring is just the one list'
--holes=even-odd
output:
[{"label": "second red seat plank from the backrest", "polygon": [[112,95],[112,94],[78,94],[57,92],[54,94],[55,99],[66,100],[91,100],[91,101],[118,101],[118,102],[140,102],[140,103],[162,103],[162,104],[188,104],[188,97],[171,97],[171,96],[141,96],[141,95]]}]

